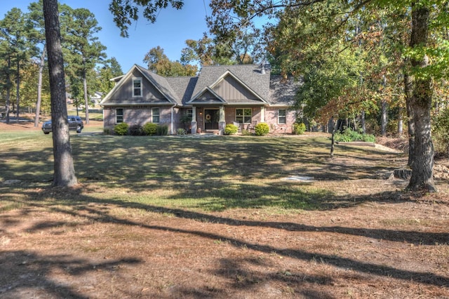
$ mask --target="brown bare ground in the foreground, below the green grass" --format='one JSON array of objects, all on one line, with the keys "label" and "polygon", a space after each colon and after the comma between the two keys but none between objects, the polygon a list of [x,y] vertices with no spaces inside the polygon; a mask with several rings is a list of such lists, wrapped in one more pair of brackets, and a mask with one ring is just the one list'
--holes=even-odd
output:
[{"label": "brown bare ground in the foreground, below the green grass", "polygon": [[335,196],[287,215],[102,202],[90,182],[31,190],[10,211],[0,194],[0,298],[449,298],[448,166],[435,194],[314,182]]}]

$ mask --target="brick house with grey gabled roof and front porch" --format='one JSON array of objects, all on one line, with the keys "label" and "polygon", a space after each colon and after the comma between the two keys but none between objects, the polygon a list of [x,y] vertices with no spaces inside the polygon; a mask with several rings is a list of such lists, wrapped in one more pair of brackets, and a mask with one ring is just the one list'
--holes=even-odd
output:
[{"label": "brick house with grey gabled roof and front porch", "polygon": [[297,83],[271,76],[257,65],[205,66],[197,77],[161,77],[133,65],[100,102],[104,126],[167,124],[174,134],[191,117],[192,133],[223,133],[226,124],[252,130],[267,123],[274,133],[291,133]]}]

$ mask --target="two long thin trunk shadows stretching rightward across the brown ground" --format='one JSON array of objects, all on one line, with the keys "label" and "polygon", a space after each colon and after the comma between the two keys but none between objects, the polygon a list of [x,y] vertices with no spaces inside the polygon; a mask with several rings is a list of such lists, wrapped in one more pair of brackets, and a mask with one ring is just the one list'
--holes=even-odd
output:
[{"label": "two long thin trunk shadows stretching rightward across the brown ground", "polygon": [[[80,190],[81,191],[81,190]],[[301,260],[312,260],[312,259],[323,259],[329,265],[335,265],[336,267],[354,269],[359,272],[366,272],[371,274],[376,274],[380,276],[391,276],[397,279],[415,279],[421,281],[425,284],[435,284],[436,286],[447,286],[449,284],[448,277],[441,277],[429,273],[413,272],[407,270],[397,270],[394,267],[375,265],[370,263],[362,263],[357,260],[351,260],[349,258],[340,258],[334,255],[323,255],[321,253],[309,253],[307,251],[292,250],[292,249],[279,249],[273,246],[265,246],[260,244],[250,244],[246,241],[241,241],[239,239],[232,239],[228,237],[223,237],[217,234],[209,234],[207,232],[200,232],[194,230],[180,230],[172,229],[165,226],[156,225],[145,225],[140,222],[134,222],[130,219],[116,218],[107,213],[107,209],[95,208],[95,206],[86,206],[88,203],[98,203],[98,204],[113,204],[116,206],[121,206],[123,208],[138,208],[143,211],[151,211],[154,213],[170,213],[178,218],[185,218],[196,221],[213,222],[225,225],[237,225],[237,226],[252,226],[252,227],[270,227],[280,230],[288,230],[295,232],[335,232],[337,234],[350,234],[361,237],[375,238],[375,239],[387,239],[390,241],[398,242],[408,242],[410,244],[424,244],[424,245],[434,245],[436,242],[447,241],[449,239],[449,233],[429,233],[429,232],[414,232],[414,231],[396,231],[396,230],[373,230],[366,228],[352,228],[352,227],[340,227],[340,226],[330,226],[330,227],[316,227],[309,225],[301,225],[294,222],[263,222],[263,221],[250,221],[250,220],[235,220],[232,218],[222,218],[216,215],[210,215],[207,213],[199,213],[196,211],[185,211],[179,208],[164,208],[161,206],[152,206],[149,204],[139,204],[135,202],[128,201],[108,201],[93,199],[91,197],[86,197],[82,194],[79,195],[78,199],[72,201],[70,204],[72,209],[70,211],[67,208],[58,207],[61,203],[56,200],[55,205],[51,207],[53,211],[59,213],[69,213],[70,215],[80,215],[82,211],[87,211],[88,213],[82,213],[83,217],[90,218],[91,220],[100,222],[112,222],[119,223],[122,225],[131,225],[138,227],[145,227],[149,230],[163,230],[163,231],[173,231],[185,234],[194,234],[197,236],[204,237],[206,239],[217,240],[221,239],[233,244],[236,247],[246,247],[253,249],[255,251],[261,251],[264,253],[276,252],[279,255],[290,256],[298,258]],[[63,204],[67,205],[67,201],[63,201]]]}]

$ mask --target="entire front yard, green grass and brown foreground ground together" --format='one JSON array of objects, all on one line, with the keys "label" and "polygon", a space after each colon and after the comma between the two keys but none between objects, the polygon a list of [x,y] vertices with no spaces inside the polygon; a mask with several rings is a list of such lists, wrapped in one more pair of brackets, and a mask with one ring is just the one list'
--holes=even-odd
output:
[{"label": "entire front yard, green grass and brown foreground ground together", "polygon": [[79,185],[51,188],[51,135],[11,132],[2,298],[449,295],[448,181],[404,193],[389,178],[404,154],[338,146],[329,159],[310,135],[71,133]]}]

